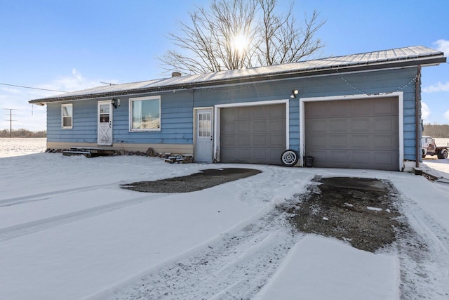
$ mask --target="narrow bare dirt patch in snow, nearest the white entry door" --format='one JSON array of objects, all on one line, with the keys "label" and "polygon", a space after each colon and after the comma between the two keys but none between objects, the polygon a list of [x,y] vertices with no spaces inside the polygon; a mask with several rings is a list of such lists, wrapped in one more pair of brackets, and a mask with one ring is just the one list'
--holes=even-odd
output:
[{"label": "narrow bare dirt patch in snow, nearest the white entry door", "polygon": [[250,177],[261,172],[260,170],[241,168],[206,169],[188,176],[124,184],[121,185],[121,188],[147,193],[189,193]]}]

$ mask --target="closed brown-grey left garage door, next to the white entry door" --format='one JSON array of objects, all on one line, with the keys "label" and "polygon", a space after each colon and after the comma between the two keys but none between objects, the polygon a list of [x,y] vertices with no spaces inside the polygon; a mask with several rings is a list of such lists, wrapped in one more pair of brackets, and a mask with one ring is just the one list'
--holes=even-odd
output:
[{"label": "closed brown-grey left garage door, next to the white entry door", "polygon": [[222,108],[220,161],[281,164],[286,150],[286,105]]}]

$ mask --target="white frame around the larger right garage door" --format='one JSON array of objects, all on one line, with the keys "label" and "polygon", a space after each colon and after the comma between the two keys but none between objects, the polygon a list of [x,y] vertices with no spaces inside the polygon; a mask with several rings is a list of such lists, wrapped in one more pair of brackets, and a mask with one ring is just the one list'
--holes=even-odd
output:
[{"label": "white frame around the larger right garage door", "polygon": [[398,138],[399,138],[399,170],[401,171],[404,167],[404,113],[403,113],[403,92],[394,93],[379,93],[376,95],[370,94],[354,94],[354,95],[342,95],[342,96],[328,96],[328,97],[309,97],[300,98],[300,166],[304,164],[302,157],[305,154],[305,112],[304,103],[311,101],[338,101],[338,100],[348,100],[348,99],[366,99],[366,98],[385,98],[385,97],[397,97],[398,98]]}]

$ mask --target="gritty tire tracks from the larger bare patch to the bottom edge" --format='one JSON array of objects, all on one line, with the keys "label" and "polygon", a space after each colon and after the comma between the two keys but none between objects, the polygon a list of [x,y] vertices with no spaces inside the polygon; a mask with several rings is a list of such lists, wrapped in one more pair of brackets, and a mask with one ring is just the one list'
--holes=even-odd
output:
[{"label": "gritty tire tracks from the larger bare patch to the bottom edge", "polygon": [[236,233],[225,233],[194,254],[102,295],[142,300],[250,299],[303,236],[290,228],[283,209],[274,208]]}]

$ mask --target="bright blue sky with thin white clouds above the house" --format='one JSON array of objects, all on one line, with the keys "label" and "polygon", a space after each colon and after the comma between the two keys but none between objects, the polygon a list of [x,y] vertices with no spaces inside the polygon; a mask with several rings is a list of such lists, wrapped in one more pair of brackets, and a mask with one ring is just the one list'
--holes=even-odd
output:
[{"label": "bright blue sky with thin white clouds above the house", "polygon": [[[208,0],[0,0],[0,83],[60,91],[166,77],[156,60],[187,11]],[[285,8],[288,0],[279,0]],[[449,1],[296,0],[295,15],[314,9],[326,24],[321,57],[404,46],[449,56]],[[424,122],[449,124],[449,64],[424,67]],[[54,92],[0,85],[0,129],[46,129],[46,107],[28,100]]]}]

